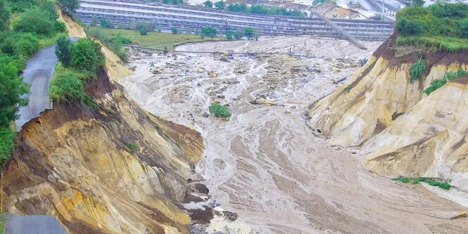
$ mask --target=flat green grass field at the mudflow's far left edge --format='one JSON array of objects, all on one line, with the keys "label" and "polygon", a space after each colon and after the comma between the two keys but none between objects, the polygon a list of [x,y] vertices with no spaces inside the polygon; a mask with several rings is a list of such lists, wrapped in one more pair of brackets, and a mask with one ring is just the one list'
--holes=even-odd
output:
[{"label": "flat green grass field at the mudflow's far left edge", "polygon": [[[91,27],[96,28],[96,27]],[[184,44],[187,42],[200,42],[200,41],[211,41],[217,40],[222,41],[224,37],[215,37],[204,38],[202,39],[199,35],[196,34],[172,34],[165,32],[148,32],[147,35],[140,35],[137,30],[117,30],[117,29],[108,29],[101,28],[103,33],[107,37],[112,38],[116,37],[117,34],[120,34],[122,37],[131,39],[134,43],[139,44],[139,46],[151,47],[151,48],[164,48],[167,46],[167,49],[173,49],[179,44]]]}]

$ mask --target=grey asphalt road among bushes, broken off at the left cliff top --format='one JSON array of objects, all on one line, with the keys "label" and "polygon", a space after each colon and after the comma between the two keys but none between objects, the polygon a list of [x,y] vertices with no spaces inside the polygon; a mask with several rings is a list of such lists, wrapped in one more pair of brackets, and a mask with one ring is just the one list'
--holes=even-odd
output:
[{"label": "grey asphalt road among bushes, broken off at the left cliff top", "polygon": [[[77,40],[74,37],[70,39]],[[21,127],[31,119],[39,117],[40,112],[52,108],[52,102],[49,98],[49,84],[53,77],[53,68],[58,62],[55,48],[56,44],[44,47],[27,60],[21,76],[24,77],[24,82],[30,84],[30,93],[25,95],[29,98],[30,103],[20,108],[18,112],[20,119],[15,121],[16,131],[20,131]]]}]

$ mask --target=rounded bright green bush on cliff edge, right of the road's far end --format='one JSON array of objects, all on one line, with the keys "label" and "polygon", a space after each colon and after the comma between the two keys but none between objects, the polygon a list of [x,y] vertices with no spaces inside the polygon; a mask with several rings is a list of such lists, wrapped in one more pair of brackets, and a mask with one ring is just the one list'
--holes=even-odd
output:
[{"label": "rounded bright green bush on cliff edge, right of the road's far end", "polygon": [[72,64],[84,72],[95,73],[99,65],[103,65],[104,58],[101,46],[91,39],[78,39],[72,48]]}]

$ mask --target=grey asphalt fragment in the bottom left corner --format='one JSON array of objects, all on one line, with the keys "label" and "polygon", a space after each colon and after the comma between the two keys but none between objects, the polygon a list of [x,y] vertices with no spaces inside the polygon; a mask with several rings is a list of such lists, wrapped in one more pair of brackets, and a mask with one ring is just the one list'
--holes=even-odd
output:
[{"label": "grey asphalt fragment in the bottom left corner", "polygon": [[55,216],[8,214],[6,234],[67,234]]}]

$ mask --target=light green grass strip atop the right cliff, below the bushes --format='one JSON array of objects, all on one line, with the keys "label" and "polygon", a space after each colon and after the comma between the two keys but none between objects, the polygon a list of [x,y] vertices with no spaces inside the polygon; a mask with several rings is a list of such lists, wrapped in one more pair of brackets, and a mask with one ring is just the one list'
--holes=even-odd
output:
[{"label": "light green grass strip atop the right cliff, below the bushes", "polygon": [[426,46],[450,52],[468,49],[467,38],[449,36],[400,36],[396,43],[401,46]]}]

